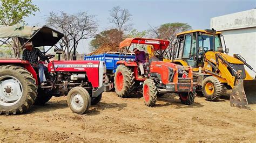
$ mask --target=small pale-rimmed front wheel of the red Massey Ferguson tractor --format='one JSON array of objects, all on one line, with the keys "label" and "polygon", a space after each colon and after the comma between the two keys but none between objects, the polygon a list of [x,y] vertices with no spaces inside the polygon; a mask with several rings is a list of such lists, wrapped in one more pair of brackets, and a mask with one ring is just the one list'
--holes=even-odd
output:
[{"label": "small pale-rimmed front wheel of the red Massey Ferguson tractor", "polygon": [[72,88],[68,93],[68,105],[71,111],[84,114],[91,106],[91,97],[82,87]]}]

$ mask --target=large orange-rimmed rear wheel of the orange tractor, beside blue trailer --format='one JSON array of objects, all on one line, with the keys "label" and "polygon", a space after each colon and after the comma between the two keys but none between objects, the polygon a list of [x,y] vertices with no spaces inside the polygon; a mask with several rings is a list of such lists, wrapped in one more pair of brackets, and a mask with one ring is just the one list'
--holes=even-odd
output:
[{"label": "large orange-rimmed rear wheel of the orange tractor, beside blue trailer", "polygon": [[119,65],[114,73],[114,88],[119,97],[128,97],[135,85],[132,68]]}]

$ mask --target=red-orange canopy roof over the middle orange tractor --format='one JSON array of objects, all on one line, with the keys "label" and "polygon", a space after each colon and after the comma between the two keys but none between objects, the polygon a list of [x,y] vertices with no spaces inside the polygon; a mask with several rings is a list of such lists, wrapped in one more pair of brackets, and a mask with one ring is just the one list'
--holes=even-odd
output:
[{"label": "red-orange canopy roof over the middle orange tractor", "polygon": [[125,46],[130,47],[131,44],[152,45],[154,47],[154,50],[156,51],[158,49],[166,49],[169,46],[170,41],[148,38],[127,38],[124,41],[120,42],[119,48],[123,48]]}]

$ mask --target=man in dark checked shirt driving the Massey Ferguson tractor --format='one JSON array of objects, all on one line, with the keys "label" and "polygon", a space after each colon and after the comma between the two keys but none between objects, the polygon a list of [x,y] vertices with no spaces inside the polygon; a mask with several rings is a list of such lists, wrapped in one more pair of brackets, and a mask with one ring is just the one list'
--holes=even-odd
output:
[{"label": "man in dark checked shirt driving the Massey Ferguson tractor", "polygon": [[23,51],[22,60],[29,61],[33,68],[38,69],[41,86],[43,87],[46,84],[44,71],[48,71],[48,68],[38,62],[38,57],[43,58],[44,55],[38,48],[33,47],[32,42],[27,42],[24,47],[26,49]]}]

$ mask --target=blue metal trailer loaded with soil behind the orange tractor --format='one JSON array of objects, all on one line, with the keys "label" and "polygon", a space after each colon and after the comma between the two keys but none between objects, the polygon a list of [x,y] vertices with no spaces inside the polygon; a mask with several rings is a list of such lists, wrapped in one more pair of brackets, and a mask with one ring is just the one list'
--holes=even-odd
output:
[{"label": "blue metal trailer loaded with soil behind the orange tractor", "polygon": [[84,56],[84,60],[99,60],[104,61],[106,64],[107,69],[107,76],[110,78],[110,81],[113,81],[114,72],[116,72],[117,69],[117,61],[124,60],[126,58],[126,61],[133,61],[135,59],[134,54],[127,54],[119,53],[119,52],[107,52],[104,54],[99,55],[88,55]]}]

